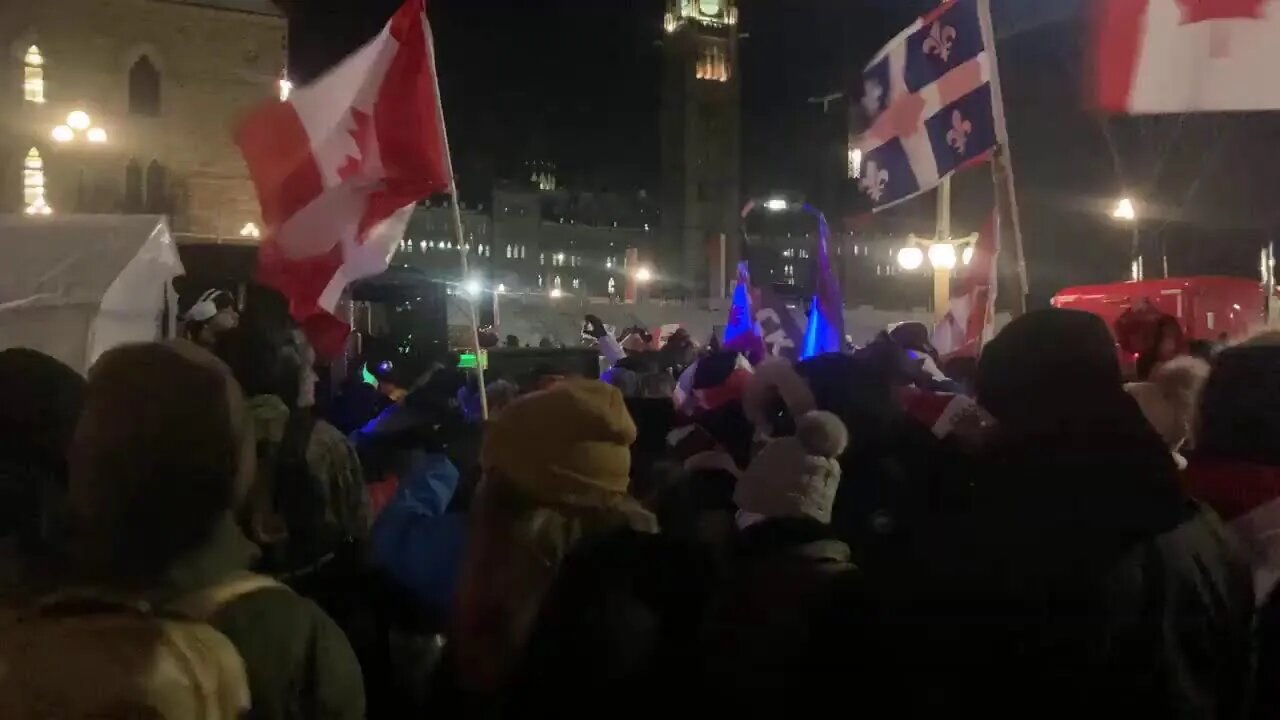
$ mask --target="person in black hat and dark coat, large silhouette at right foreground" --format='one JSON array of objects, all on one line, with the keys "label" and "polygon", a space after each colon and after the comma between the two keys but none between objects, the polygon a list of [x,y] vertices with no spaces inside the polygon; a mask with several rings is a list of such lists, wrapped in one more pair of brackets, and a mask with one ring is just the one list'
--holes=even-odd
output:
[{"label": "person in black hat and dark coat, large silhouette at right foreground", "polygon": [[1014,320],[984,350],[978,396],[998,428],[972,511],[922,573],[931,647],[913,650],[932,682],[916,700],[992,717],[1242,717],[1249,568],[1181,492],[1103,322]]}]

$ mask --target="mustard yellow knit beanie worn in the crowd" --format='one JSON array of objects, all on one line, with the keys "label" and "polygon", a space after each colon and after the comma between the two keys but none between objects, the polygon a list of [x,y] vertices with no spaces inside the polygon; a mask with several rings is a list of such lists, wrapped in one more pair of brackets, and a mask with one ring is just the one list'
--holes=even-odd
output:
[{"label": "mustard yellow knit beanie worn in the crowd", "polygon": [[485,428],[480,461],[541,502],[625,493],[636,427],[617,388],[567,380],[521,397]]}]

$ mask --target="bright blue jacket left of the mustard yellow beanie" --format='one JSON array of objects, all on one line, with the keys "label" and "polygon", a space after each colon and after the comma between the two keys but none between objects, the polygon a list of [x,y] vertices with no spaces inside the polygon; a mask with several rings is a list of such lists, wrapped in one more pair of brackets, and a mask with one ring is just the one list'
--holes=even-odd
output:
[{"label": "bright blue jacket left of the mustard yellow beanie", "polygon": [[374,523],[372,561],[428,609],[448,614],[466,547],[466,515],[445,512],[458,470],[440,454],[406,455],[396,498]]}]

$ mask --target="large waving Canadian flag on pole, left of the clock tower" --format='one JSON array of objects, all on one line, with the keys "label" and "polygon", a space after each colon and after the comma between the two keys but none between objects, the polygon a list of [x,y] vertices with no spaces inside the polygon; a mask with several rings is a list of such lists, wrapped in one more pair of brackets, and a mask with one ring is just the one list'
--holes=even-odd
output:
[{"label": "large waving Canadian flag on pole, left of the clock tower", "polygon": [[343,290],[385,270],[413,204],[451,186],[424,3],[237,133],[266,225],[259,279],[323,355],[351,332],[335,315]]}]

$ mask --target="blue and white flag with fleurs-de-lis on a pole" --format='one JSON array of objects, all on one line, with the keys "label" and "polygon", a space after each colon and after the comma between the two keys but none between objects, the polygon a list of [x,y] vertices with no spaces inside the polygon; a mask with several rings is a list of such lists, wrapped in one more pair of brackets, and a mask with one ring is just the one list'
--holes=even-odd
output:
[{"label": "blue and white flag with fleurs-de-lis on a pole", "polygon": [[986,4],[948,0],[863,70],[872,120],[859,187],[877,210],[915,197],[996,146]]}]

